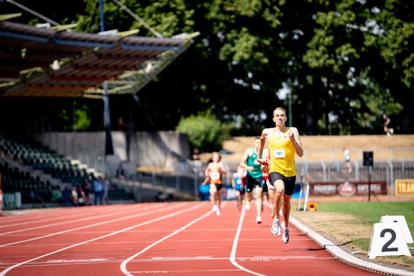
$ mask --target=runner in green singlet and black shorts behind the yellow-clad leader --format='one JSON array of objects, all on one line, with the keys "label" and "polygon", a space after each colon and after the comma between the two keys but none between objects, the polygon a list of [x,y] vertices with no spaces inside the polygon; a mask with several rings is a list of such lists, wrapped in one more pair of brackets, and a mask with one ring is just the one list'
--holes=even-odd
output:
[{"label": "runner in green singlet and black shorts behind the yellow-clad leader", "polygon": [[253,199],[253,191],[256,194],[256,223],[262,223],[262,202],[263,202],[263,174],[262,165],[257,161],[262,156],[258,157],[260,137],[255,137],[253,147],[247,148],[244,151],[240,166],[247,170],[246,175],[246,209],[250,209],[250,201]]}]

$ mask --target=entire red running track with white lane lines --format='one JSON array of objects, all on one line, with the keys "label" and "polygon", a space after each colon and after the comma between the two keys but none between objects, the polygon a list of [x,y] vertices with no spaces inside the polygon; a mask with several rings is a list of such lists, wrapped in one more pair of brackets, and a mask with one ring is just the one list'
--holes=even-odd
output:
[{"label": "entire red running track with white lane lines", "polygon": [[[254,204],[252,205],[252,207]],[[0,217],[3,275],[374,275],[333,257],[290,226],[270,233],[270,211],[221,216],[208,202],[57,208]]]}]

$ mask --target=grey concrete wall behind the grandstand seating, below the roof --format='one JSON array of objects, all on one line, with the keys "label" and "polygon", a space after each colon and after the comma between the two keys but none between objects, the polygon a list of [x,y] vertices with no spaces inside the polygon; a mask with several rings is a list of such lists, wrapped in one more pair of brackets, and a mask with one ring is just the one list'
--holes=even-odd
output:
[{"label": "grey concrete wall behind the grandstand seating, below the roof", "polygon": [[[128,161],[126,132],[112,131],[112,161]],[[102,159],[105,132],[45,132],[34,139],[73,159]],[[190,156],[188,137],[174,131],[134,132],[130,137],[130,163],[135,166],[171,168]],[[79,158],[82,157],[82,158]],[[90,162],[89,162],[90,163]]]}]

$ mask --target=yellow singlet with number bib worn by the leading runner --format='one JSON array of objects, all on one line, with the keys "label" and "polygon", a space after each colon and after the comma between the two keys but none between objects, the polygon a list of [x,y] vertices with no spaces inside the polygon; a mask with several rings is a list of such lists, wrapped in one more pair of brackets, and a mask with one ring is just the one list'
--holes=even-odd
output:
[{"label": "yellow singlet with number bib worn by the leading runner", "polygon": [[295,146],[290,141],[286,128],[284,133],[272,132],[268,137],[270,151],[270,172],[279,172],[285,177],[293,177],[296,175],[295,169]]}]

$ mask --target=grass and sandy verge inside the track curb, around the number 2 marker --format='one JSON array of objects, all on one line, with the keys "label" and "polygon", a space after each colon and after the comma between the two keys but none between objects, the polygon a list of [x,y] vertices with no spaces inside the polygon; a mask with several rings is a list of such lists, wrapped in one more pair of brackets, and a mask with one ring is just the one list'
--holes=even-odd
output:
[{"label": "grass and sandy verge inside the track curb, around the number 2 marker", "polygon": [[[295,218],[317,230],[320,234],[336,239],[337,244],[346,244],[365,256],[371,241],[373,224],[384,215],[404,215],[411,235],[414,235],[414,202],[322,202],[315,212],[297,211],[292,205]],[[408,244],[413,248],[414,244]],[[414,250],[410,249],[414,255]],[[376,257],[376,261],[414,267],[414,257]]]}]

